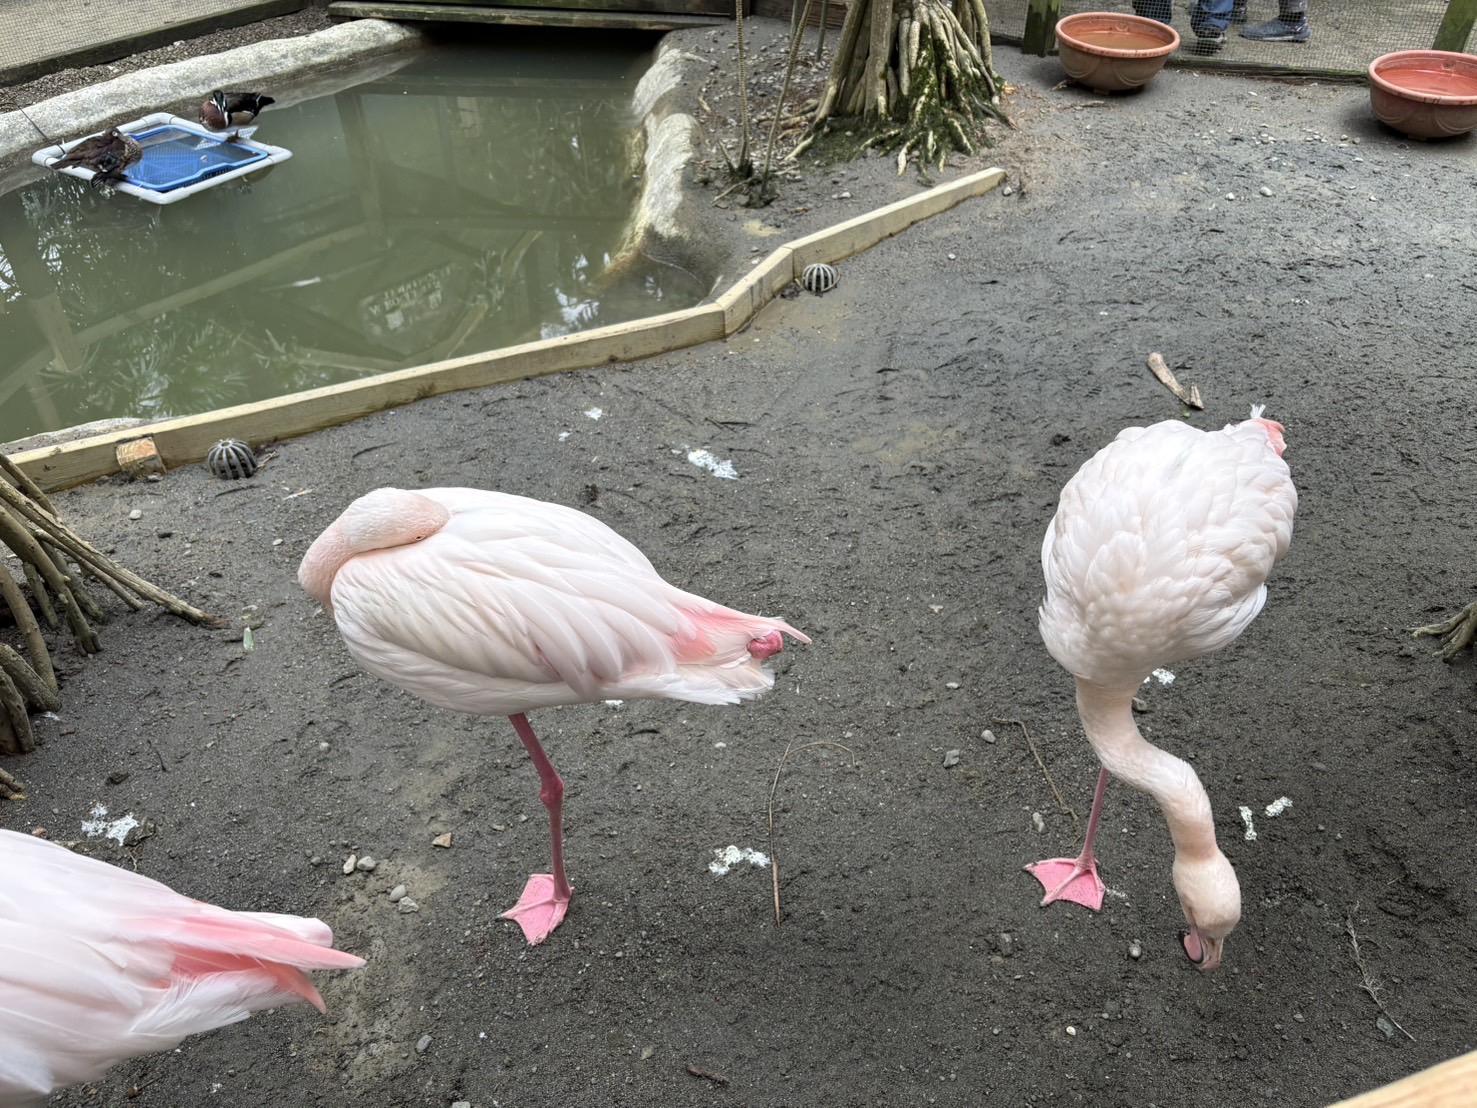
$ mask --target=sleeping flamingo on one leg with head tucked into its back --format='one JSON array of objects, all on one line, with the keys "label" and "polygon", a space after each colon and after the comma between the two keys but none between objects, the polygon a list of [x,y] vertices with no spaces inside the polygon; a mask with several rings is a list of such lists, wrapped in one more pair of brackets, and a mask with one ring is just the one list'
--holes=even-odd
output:
[{"label": "sleeping flamingo on one leg with head tucked into its back", "polygon": [[349,653],[439,708],[507,715],[539,773],[552,872],[502,913],[530,944],[560,925],[564,782],[524,712],[607,699],[737,703],[774,684],[781,619],[746,616],[665,582],[600,520],[482,489],[375,489],[309,547],[298,581]]}]

